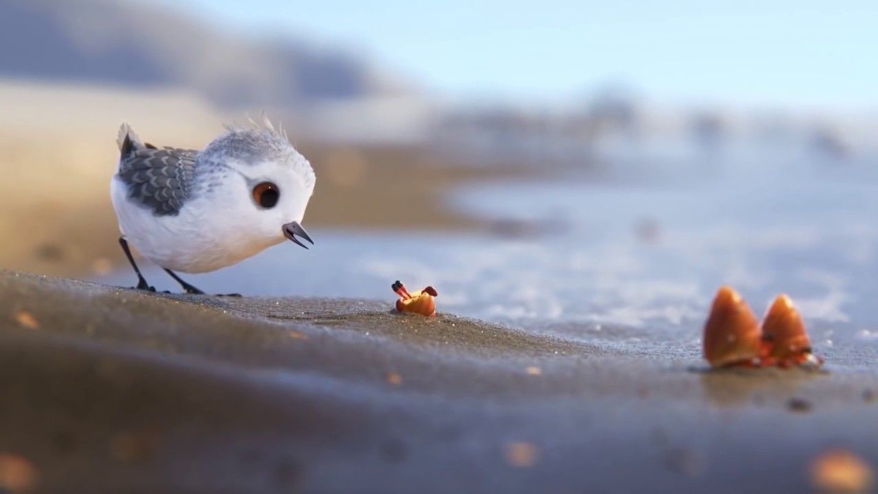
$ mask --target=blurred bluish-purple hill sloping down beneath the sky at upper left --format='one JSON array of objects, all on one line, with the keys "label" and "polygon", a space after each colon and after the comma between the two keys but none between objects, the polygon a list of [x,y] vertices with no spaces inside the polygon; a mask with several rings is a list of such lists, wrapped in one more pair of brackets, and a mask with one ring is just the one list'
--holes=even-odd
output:
[{"label": "blurred bluish-purple hill sloping down beneath the sky at upper left", "polygon": [[249,40],[167,9],[113,0],[0,2],[0,76],[184,88],[224,107],[399,91],[351,54],[292,38]]}]

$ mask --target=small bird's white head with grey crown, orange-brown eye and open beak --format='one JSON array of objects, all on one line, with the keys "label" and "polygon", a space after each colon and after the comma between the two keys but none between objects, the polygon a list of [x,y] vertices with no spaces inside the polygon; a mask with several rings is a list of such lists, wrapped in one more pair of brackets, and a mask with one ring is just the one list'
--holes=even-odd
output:
[{"label": "small bird's white head with grey crown, orange-brown eye and open beak", "polygon": [[208,174],[232,178],[208,177],[205,186],[223,183],[227,214],[237,216],[241,236],[265,245],[285,237],[306,249],[300,239],[313,243],[301,222],[314,190],[314,171],[283,131],[267,120],[265,127],[230,127],[198,159],[208,164]]}]

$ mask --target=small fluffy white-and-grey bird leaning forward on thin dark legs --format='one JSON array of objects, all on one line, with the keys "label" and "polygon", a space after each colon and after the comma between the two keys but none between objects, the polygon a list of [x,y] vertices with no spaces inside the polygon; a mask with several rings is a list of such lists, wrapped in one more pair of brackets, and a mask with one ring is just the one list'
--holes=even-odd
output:
[{"label": "small fluffy white-and-grey bird leaning forward on thin dark legs", "polygon": [[158,148],[123,122],[119,165],[110,196],[119,220],[119,245],[144,279],[129,247],[159,265],[187,294],[204,294],[176,272],[211,272],[234,265],[288,239],[313,244],[302,227],[316,178],[283,128],[227,126],[205,149]]}]

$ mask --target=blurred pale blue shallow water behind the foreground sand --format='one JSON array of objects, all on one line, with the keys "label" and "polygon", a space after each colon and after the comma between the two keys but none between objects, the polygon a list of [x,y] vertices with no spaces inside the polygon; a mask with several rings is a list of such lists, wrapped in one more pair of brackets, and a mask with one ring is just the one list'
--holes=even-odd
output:
[{"label": "blurred pale blue shallow water behind the foreground sand", "polygon": [[[766,159],[715,163],[685,182],[471,185],[450,206],[493,221],[490,232],[316,229],[311,251],[283,243],[186,280],[218,293],[393,301],[399,279],[436,287],[441,311],[684,359],[697,357],[709,302],[728,283],[758,313],[791,295],[817,351],[863,367],[878,356],[874,175],[868,161]],[[155,266],[145,275],[177,289]],[[133,275],[101,281],[127,286]]]}]

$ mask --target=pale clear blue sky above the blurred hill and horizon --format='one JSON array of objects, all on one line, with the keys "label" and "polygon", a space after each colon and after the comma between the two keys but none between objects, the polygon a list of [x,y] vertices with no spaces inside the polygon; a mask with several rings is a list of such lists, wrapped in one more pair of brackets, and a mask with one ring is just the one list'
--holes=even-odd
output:
[{"label": "pale clear blue sky above the blurred hill and horizon", "polygon": [[878,106],[878,2],[147,0],[342,47],[449,97],[622,84],[674,102]]}]

